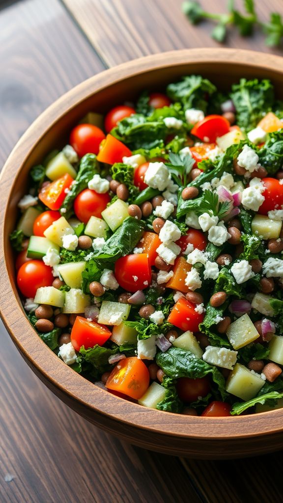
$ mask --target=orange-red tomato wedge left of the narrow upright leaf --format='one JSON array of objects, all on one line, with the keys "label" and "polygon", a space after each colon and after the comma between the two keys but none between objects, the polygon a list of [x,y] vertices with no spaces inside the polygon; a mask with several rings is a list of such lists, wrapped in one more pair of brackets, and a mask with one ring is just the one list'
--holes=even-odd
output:
[{"label": "orange-red tomato wedge left of the narrow upright leaf", "polygon": [[74,179],[66,173],[63,177],[42,187],[38,197],[50,210],[58,210],[66,197],[67,189],[73,182]]}]

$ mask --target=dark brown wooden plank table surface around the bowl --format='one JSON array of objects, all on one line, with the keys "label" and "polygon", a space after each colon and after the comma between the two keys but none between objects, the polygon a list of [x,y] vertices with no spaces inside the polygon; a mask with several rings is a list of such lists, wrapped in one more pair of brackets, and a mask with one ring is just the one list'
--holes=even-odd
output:
[{"label": "dark brown wooden plank table surface around the bowl", "polygon": [[[211,12],[226,3],[202,0]],[[190,26],[181,4],[0,0],[0,164],[39,113],[85,78],[146,54],[217,47],[210,25]],[[256,5],[261,20],[270,10],[283,15],[282,0]],[[227,45],[271,52],[260,34],[243,39],[232,30]],[[0,337],[0,503],[282,501],[281,453],[208,462],[122,443],[53,396],[2,324]]]}]

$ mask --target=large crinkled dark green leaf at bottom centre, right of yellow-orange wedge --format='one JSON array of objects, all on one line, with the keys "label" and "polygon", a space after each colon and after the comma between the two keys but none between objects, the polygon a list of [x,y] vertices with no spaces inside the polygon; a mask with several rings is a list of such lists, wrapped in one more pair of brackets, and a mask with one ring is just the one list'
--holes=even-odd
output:
[{"label": "large crinkled dark green leaf at bottom centre, right of yellow-orange wedge", "polygon": [[211,374],[222,399],[224,400],[228,396],[225,391],[225,379],[221,372],[216,367],[196,358],[189,351],[180,348],[169,348],[165,353],[160,352],[157,354],[156,363],[172,379],[180,377],[198,379]]}]

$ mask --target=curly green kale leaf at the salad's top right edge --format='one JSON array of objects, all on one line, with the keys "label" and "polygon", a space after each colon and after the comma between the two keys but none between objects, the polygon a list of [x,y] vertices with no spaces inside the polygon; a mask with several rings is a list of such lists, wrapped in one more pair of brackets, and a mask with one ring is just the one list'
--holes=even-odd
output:
[{"label": "curly green kale leaf at the salad's top right edge", "polygon": [[270,80],[241,78],[232,86],[231,99],[237,112],[238,126],[246,130],[256,127],[263,112],[269,112],[274,103],[274,90]]}]

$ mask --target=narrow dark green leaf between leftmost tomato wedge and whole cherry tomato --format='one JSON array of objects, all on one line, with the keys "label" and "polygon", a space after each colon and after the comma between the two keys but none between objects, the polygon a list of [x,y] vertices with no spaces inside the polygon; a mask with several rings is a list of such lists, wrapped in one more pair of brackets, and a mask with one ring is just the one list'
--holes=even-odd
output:
[{"label": "narrow dark green leaf between leftmost tomato wedge and whole cherry tomato", "polygon": [[96,173],[99,173],[99,165],[95,154],[86,154],[82,157],[79,171],[75,180],[75,183],[70,187],[62,206],[60,207],[60,213],[66,219],[74,213],[73,203],[75,198],[84,189],[87,189],[88,182],[93,178]]}]

